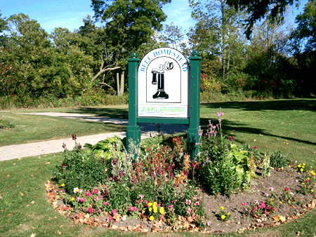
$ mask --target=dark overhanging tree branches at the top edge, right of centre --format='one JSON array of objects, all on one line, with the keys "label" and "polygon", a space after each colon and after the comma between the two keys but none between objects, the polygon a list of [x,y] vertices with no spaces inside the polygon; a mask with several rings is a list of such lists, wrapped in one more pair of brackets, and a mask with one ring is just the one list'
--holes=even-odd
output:
[{"label": "dark overhanging tree branches at the top edge, right of centre", "polygon": [[258,20],[268,18],[270,22],[279,24],[284,20],[287,7],[296,6],[299,0],[226,0],[228,6],[234,6],[235,9],[246,10],[249,17],[246,19],[246,37],[251,38],[252,29]]}]

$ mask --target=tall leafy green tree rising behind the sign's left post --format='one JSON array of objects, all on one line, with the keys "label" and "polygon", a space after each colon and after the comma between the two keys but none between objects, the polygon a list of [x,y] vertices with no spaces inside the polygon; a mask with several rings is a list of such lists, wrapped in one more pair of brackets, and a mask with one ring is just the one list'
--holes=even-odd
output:
[{"label": "tall leafy green tree rising behind the sign's left post", "polygon": [[119,95],[124,92],[126,59],[131,52],[151,41],[154,30],[162,29],[162,22],[166,20],[162,6],[169,2],[171,0],[92,0],[94,17],[105,22],[107,49],[112,56],[110,64],[119,67]]}]

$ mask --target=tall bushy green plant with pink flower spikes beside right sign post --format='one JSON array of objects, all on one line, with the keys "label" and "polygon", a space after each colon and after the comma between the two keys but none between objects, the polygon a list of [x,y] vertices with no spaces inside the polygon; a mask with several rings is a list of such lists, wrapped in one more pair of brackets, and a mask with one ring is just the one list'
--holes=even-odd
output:
[{"label": "tall bushy green plant with pink flower spikes beside right sign post", "polygon": [[223,113],[218,114],[218,125],[209,121],[205,135],[199,128],[199,154],[197,156],[197,177],[211,194],[230,195],[236,188],[251,184],[256,177],[256,161],[251,152],[233,143],[226,143],[221,129]]}]

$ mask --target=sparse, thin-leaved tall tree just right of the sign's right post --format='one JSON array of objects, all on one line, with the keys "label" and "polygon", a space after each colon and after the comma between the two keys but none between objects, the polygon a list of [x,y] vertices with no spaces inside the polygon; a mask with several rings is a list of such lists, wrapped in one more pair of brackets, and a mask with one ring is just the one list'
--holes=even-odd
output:
[{"label": "sparse, thin-leaved tall tree just right of the sign's right post", "polygon": [[[201,71],[216,72],[218,78],[221,77],[220,81],[227,83],[228,74],[244,67],[245,39],[239,30],[242,27],[242,14],[226,6],[223,0],[209,1],[204,6],[199,1],[190,0],[190,6],[197,24],[190,29],[188,36],[192,49],[202,52],[204,60]],[[217,68],[204,69],[211,64]]]}]

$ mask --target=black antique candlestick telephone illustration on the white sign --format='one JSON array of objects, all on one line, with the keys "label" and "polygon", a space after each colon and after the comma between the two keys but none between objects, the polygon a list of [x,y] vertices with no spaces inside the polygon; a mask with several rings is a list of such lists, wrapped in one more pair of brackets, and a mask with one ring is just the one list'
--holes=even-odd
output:
[{"label": "black antique candlestick telephone illustration on the white sign", "polygon": [[169,71],[171,69],[173,69],[173,62],[165,62],[164,65],[159,65],[159,69],[157,68],[152,69],[152,85],[157,85],[157,93],[152,95],[152,98],[154,99],[168,99],[169,98],[169,95],[164,91],[164,71]]}]

